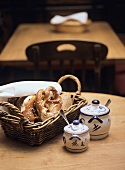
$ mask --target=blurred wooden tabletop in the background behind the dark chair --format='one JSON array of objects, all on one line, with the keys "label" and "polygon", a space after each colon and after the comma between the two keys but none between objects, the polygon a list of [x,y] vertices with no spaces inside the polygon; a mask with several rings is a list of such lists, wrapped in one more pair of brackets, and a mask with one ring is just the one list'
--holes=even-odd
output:
[{"label": "blurred wooden tabletop in the background behind the dark chair", "polygon": [[[28,45],[49,40],[86,40],[104,43],[108,46],[107,59],[125,59],[125,47],[107,22],[93,22],[83,33],[54,32],[50,24],[21,24],[0,54],[0,61],[26,61]],[[1,62],[1,63],[2,63]]]}]

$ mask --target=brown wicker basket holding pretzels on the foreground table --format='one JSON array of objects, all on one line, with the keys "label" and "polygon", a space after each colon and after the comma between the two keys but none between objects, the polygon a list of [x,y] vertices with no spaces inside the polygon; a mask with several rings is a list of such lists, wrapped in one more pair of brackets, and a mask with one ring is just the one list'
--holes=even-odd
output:
[{"label": "brown wicker basket holding pretzels on the foreground table", "polygon": [[[72,122],[74,119],[78,119],[79,109],[87,104],[87,100],[80,95],[81,84],[77,77],[65,75],[58,80],[58,83],[62,83],[67,78],[74,80],[78,87],[78,90],[75,93],[74,104],[66,110],[66,116],[69,122]],[[0,106],[5,106],[11,110],[10,113],[5,110],[0,110],[0,122],[4,133],[11,138],[18,139],[29,145],[42,144],[44,141],[63,132],[63,128],[66,125],[66,122],[60,114],[56,117],[49,118],[44,122],[31,123],[13,104],[10,104],[9,102],[0,102]]]}]

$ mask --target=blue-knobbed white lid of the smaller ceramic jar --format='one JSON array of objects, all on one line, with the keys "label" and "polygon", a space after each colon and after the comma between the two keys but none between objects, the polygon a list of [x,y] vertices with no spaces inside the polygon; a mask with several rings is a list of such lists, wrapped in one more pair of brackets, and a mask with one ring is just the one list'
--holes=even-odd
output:
[{"label": "blue-knobbed white lid of the smaller ceramic jar", "polygon": [[80,123],[79,120],[74,120],[73,123],[64,127],[64,132],[75,135],[84,134],[88,132],[88,130],[89,130],[88,126]]}]

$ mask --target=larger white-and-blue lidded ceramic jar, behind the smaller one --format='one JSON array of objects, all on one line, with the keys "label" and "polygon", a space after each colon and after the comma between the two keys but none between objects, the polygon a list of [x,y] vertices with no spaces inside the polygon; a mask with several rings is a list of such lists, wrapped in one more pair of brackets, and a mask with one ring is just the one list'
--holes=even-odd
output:
[{"label": "larger white-and-blue lidded ceramic jar, behind the smaller one", "polygon": [[108,136],[111,125],[110,109],[93,100],[92,104],[80,109],[79,119],[89,127],[90,139],[103,139]]}]

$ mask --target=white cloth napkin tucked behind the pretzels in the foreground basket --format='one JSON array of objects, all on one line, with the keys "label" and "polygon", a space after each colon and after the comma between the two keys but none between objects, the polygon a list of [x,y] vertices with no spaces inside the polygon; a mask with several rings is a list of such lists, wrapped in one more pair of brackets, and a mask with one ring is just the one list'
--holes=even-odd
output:
[{"label": "white cloth napkin tucked behind the pretzels in the foreground basket", "polygon": [[53,86],[60,94],[62,87],[52,81],[20,81],[0,86],[0,97],[21,97],[36,94],[40,89]]}]

